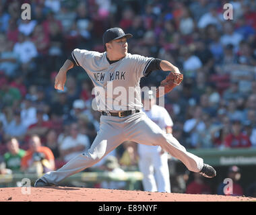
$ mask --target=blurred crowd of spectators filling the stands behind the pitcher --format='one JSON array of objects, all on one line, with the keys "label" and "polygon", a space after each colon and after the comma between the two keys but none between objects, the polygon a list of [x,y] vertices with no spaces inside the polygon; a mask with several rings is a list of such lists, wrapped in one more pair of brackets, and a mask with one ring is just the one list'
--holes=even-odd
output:
[{"label": "blurred crowd of spectators filling the stands behind the pitcher", "polygon": [[[22,3],[31,5],[31,19],[21,19]],[[224,3],[233,6],[232,20],[223,17]],[[169,60],[184,74],[183,83],[165,97],[181,144],[255,147],[255,11],[251,0],[0,0],[5,165],[24,171],[34,158],[56,169],[90,147],[100,113],[92,110],[88,75],[71,69],[64,91],[55,90],[54,81],[74,48],[104,52],[102,34],[112,27],[133,34],[131,54]],[[156,87],[165,77],[154,71],[141,79],[141,87]],[[113,154],[135,165],[136,147],[130,142],[120,147]],[[10,157],[15,159],[8,163]]]}]

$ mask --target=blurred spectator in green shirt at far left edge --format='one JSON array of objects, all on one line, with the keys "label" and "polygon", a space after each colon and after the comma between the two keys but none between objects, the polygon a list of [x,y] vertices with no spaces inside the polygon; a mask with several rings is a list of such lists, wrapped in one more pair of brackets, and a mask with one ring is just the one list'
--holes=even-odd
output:
[{"label": "blurred spectator in green shirt at far left edge", "polygon": [[26,151],[20,148],[17,138],[11,138],[7,141],[8,152],[5,153],[4,159],[7,169],[11,169],[12,173],[21,171],[21,161]]}]

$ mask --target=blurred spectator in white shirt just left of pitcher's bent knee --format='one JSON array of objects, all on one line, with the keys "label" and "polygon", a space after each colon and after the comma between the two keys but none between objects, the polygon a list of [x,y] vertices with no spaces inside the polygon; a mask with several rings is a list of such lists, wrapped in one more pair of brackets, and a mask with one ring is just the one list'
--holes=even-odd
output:
[{"label": "blurred spectator in white shirt just left of pitcher's bent knee", "polygon": [[70,135],[66,136],[59,146],[63,160],[68,162],[88,148],[90,148],[90,140],[88,136],[79,133],[79,128],[76,123],[71,124]]}]

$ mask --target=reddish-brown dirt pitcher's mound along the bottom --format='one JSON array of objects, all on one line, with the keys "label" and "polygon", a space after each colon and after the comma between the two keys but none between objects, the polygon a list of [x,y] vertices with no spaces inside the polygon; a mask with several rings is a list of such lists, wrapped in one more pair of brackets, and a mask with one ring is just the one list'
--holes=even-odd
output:
[{"label": "reddish-brown dirt pitcher's mound along the bottom", "polygon": [[[29,193],[30,192],[30,193]],[[241,202],[256,198],[241,196],[154,193],[138,190],[79,187],[1,187],[1,202]]]}]

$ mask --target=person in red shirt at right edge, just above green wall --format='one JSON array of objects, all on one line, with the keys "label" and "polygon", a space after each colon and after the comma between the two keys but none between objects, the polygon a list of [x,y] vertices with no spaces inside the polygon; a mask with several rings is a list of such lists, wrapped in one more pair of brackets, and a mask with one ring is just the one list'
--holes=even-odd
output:
[{"label": "person in red shirt at right edge, just above green wall", "polygon": [[249,136],[241,131],[241,121],[234,120],[232,122],[231,134],[224,139],[224,146],[230,148],[246,148],[251,147]]}]

